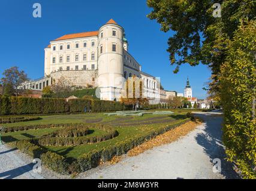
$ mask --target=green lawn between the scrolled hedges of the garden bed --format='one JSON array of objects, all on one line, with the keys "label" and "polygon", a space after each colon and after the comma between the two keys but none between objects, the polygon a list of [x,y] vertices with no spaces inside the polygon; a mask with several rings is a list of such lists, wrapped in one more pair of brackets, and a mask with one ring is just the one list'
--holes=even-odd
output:
[{"label": "green lawn between the scrolled hedges of the garden bed", "polygon": [[[19,125],[38,125],[38,124],[68,124],[68,123],[80,123],[86,122],[86,120],[101,119],[100,124],[112,125],[119,133],[119,135],[110,140],[102,141],[95,144],[85,144],[81,146],[73,147],[59,147],[59,146],[47,146],[46,149],[59,153],[66,158],[78,158],[84,153],[88,153],[91,150],[101,149],[111,144],[124,141],[128,138],[139,136],[145,132],[151,132],[167,125],[179,124],[186,120],[186,110],[183,112],[178,111],[174,114],[167,115],[144,115],[144,116],[107,116],[104,113],[88,113],[88,114],[77,114],[77,115],[50,115],[40,116],[41,120],[28,121],[28,122],[17,122],[14,124],[6,124],[5,127],[16,127]],[[59,128],[46,128],[40,130],[27,130],[17,131],[13,133],[3,134],[3,140],[14,141],[23,140],[32,137],[41,137],[42,135],[52,133]],[[104,131],[90,128],[91,133],[86,136],[95,136],[104,134]]]}]

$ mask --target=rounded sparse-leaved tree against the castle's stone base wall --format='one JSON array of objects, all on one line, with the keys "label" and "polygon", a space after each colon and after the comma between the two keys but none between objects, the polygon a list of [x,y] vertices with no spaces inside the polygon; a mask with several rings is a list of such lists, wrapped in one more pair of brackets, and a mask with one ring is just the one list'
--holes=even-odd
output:
[{"label": "rounded sparse-leaved tree against the castle's stone base wall", "polygon": [[56,97],[67,98],[70,96],[73,84],[65,77],[61,77],[52,85],[52,90]]}]

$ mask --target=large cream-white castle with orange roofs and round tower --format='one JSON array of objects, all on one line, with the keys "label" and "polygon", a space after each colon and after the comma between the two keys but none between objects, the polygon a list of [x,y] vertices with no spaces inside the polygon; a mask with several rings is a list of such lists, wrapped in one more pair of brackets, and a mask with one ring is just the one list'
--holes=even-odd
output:
[{"label": "large cream-white castle with orange roofs and round tower", "polygon": [[175,96],[175,92],[160,90],[159,79],[141,71],[128,45],[124,28],[113,19],[97,31],[54,39],[44,49],[44,78],[32,81],[29,88],[43,90],[64,77],[77,87],[98,87],[101,100],[118,101],[125,79],[137,76],[150,103]]}]

